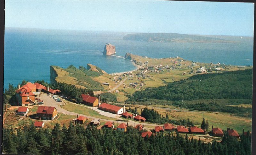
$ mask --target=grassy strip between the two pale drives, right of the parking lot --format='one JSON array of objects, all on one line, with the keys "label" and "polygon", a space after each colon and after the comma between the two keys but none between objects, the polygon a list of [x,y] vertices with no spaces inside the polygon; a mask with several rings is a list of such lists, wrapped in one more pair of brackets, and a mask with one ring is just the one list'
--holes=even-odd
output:
[{"label": "grassy strip between the two pale drives, right of the parking lot", "polygon": [[76,113],[80,113],[80,114],[87,115],[87,116],[92,116],[92,117],[97,117],[97,118],[102,118],[102,119],[108,119],[108,120],[116,120],[115,118],[112,118],[112,117],[106,117],[106,116],[100,115],[95,110],[87,108],[84,105],[80,106],[80,105],[75,105],[75,104],[71,104],[69,102],[66,102],[65,105],[62,105],[62,108],[66,109],[70,112],[76,112]]}]

